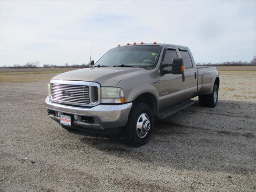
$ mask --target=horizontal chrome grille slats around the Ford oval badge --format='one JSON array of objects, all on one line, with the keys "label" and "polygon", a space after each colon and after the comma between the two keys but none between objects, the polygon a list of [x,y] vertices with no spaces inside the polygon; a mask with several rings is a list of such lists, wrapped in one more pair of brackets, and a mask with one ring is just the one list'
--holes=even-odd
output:
[{"label": "horizontal chrome grille slats around the Ford oval badge", "polygon": [[[64,95],[68,92],[68,95]],[[84,105],[90,103],[89,87],[84,85],[52,84],[52,101]]]}]

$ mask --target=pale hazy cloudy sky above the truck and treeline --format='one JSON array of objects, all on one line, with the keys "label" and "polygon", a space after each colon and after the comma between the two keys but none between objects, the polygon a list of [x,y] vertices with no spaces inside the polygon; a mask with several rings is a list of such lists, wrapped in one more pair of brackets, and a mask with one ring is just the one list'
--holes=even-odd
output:
[{"label": "pale hazy cloudy sky above the truck and treeline", "polygon": [[82,64],[117,44],[188,46],[196,62],[256,54],[256,1],[3,1],[0,65]]}]

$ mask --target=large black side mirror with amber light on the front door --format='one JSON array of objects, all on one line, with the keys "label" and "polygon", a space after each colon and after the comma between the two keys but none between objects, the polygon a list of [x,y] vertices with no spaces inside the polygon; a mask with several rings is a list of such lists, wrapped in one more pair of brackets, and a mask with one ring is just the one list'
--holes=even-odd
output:
[{"label": "large black side mirror with amber light on the front door", "polygon": [[[172,70],[162,70],[162,68],[165,67],[172,67]],[[172,59],[172,64],[161,64],[160,65],[161,68],[161,74],[174,74],[174,75],[178,75],[178,74],[184,74],[184,65],[183,65],[183,59],[182,58],[173,58]]]}]

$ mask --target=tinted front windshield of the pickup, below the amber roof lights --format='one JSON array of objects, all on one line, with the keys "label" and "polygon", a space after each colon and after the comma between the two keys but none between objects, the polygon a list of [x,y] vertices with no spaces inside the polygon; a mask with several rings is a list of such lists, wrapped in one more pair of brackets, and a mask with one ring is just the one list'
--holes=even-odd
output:
[{"label": "tinted front windshield of the pickup, below the amber roof lights", "polygon": [[109,50],[95,66],[153,67],[160,52],[160,46],[136,45]]}]

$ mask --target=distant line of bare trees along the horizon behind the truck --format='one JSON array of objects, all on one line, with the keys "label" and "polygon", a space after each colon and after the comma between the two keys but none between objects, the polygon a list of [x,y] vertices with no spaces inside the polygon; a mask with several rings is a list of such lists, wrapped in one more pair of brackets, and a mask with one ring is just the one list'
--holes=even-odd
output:
[{"label": "distant line of bare trees along the horizon behind the truck", "polygon": [[[18,64],[14,64],[12,67],[9,66],[2,66],[3,68],[38,68],[40,67],[40,62],[35,61],[35,62],[27,62],[26,65],[20,66]],[[248,65],[248,66],[255,66],[256,65],[256,56],[253,57],[251,62],[242,62],[242,61],[226,61],[226,62],[221,62],[221,63],[196,63],[197,66],[240,66],[240,65]],[[64,65],[48,65],[44,64],[42,66],[43,68],[88,68],[88,64],[68,64],[65,63]]]}]

